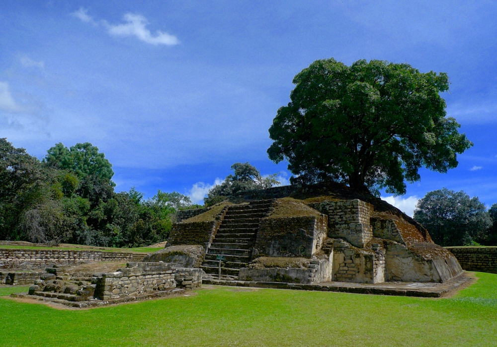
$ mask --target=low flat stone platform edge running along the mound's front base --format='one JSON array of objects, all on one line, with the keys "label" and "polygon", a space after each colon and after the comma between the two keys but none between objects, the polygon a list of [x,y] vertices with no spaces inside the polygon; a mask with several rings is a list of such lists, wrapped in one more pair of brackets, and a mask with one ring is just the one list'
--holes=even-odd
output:
[{"label": "low flat stone platform edge running along the mound's front base", "polygon": [[203,279],[202,284],[232,287],[338,291],[357,294],[442,297],[464,288],[473,280],[474,278],[471,277],[470,274],[465,272],[445,283],[384,282],[379,284],[366,284],[349,282],[325,282],[319,284],[303,285],[281,282],[251,282],[228,281],[224,279]]}]

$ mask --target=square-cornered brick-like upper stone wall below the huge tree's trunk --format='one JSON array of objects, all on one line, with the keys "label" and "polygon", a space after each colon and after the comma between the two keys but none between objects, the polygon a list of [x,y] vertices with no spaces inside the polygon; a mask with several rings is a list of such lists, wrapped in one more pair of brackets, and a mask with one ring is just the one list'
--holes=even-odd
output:
[{"label": "square-cornered brick-like upper stone wall below the huge tree's trunk", "polygon": [[309,204],[328,215],[328,237],[344,238],[356,247],[364,247],[373,237],[369,219],[373,205],[359,199],[327,200]]}]

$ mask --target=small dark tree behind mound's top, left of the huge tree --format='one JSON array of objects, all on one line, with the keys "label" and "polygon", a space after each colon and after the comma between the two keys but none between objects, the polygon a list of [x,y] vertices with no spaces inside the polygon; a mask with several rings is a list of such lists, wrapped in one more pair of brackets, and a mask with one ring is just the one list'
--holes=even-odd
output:
[{"label": "small dark tree behind mound's top, left of the huge tree", "polygon": [[241,191],[266,189],[280,182],[276,179],[277,173],[263,177],[259,170],[247,163],[235,163],[231,166],[233,174],[226,176],[223,183],[215,185],[207,193],[204,203],[214,205]]}]

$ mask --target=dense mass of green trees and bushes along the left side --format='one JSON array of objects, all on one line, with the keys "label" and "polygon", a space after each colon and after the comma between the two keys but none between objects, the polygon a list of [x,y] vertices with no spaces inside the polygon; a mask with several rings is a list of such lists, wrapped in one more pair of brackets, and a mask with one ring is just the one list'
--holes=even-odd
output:
[{"label": "dense mass of green trees and bushes along the left side", "polygon": [[98,148],[61,143],[40,162],[0,139],[0,239],[135,247],[165,240],[171,216],[195,208],[187,196],[114,191]]}]

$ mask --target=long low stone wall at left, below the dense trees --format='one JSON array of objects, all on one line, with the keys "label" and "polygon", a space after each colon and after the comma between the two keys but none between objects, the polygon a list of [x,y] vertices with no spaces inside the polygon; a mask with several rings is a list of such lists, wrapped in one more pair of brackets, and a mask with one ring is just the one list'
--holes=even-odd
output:
[{"label": "long low stone wall at left, below the dense trees", "polygon": [[37,269],[54,264],[138,261],[145,254],[57,249],[0,249],[0,268]]}]

